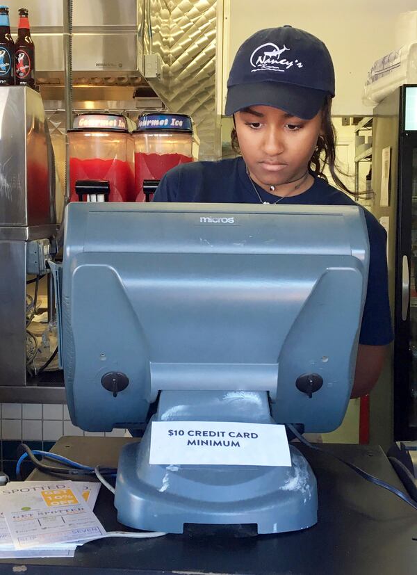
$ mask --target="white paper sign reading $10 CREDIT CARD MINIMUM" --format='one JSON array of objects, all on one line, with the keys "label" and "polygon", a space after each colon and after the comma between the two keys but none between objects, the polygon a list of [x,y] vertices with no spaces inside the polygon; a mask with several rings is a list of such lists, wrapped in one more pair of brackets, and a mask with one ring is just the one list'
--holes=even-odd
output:
[{"label": "white paper sign reading $10 CREDIT CARD MINIMUM", "polygon": [[291,456],[275,423],[153,421],[149,463],[291,467]]}]

